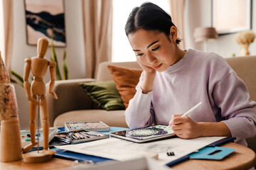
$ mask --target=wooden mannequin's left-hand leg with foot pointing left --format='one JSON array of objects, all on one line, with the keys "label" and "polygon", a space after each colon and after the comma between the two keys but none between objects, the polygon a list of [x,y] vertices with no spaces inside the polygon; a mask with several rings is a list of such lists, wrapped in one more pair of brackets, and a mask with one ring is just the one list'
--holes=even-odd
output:
[{"label": "wooden mannequin's left-hand leg with foot pointing left", "polygon": [[[34,95],[33,98],[36,99],[36,95]],[[30,112],[29,128],[31,131],[31,144],[23,148],[23,153],[28,152],[38,144],[38,142],[36,142],[36,108],[37,108],[37,105],[30,101],[29,102],[29,112]]]}]

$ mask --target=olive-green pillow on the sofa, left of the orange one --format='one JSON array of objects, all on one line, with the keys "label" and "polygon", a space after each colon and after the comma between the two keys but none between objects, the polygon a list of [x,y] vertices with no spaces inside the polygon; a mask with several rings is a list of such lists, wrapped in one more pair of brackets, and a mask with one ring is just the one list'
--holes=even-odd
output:
[{"label": "olive-green pillow on the sofa, left of the orange one", "polygon": [[124,103],[114,81],[81,83],[80,86],[99,108],[107,111],[124,110]]}]

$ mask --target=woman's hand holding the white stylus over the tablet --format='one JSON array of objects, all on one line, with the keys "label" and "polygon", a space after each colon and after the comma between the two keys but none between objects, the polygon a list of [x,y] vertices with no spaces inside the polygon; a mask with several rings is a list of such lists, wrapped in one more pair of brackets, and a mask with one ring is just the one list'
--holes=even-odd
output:
[{"label": "woman's hand holding the white stylus over the tablet", "polygon": [[174,133],[183,139],[200,137],[200,125],[188,116],[181,117],[181,115],[173,115],[173,118],[169,122]]}]

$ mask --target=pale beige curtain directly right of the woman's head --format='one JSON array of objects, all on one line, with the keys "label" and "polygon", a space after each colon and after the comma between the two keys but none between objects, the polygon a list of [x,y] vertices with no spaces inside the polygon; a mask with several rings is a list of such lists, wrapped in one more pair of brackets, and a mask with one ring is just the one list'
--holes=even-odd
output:
[{"label": "pale beige curtain directly right of the woman's head", "polygon": [[185,0],[170,0],[171,5],[171,19],[174,25],[178,28],[178,38],[181,38],[181,42],[179,47],[184,50],[185,43],[183,40],[184,37],[184,30],[183,30],[183,16],[184,16],[184,7],[185,7]]}]

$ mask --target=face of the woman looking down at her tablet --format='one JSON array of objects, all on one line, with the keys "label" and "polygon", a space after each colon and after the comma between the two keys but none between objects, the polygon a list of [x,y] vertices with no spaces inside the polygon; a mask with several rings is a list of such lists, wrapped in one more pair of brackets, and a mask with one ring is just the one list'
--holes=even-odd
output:
[{"label": "face of the woman looking down at her tablet", "polygon": [[176,54],[176,37],[170,34],[169,38],[158,30],[139,29],[128,35],[137,61],[158,72],[164,72],[171,64],[180,60]]}]

